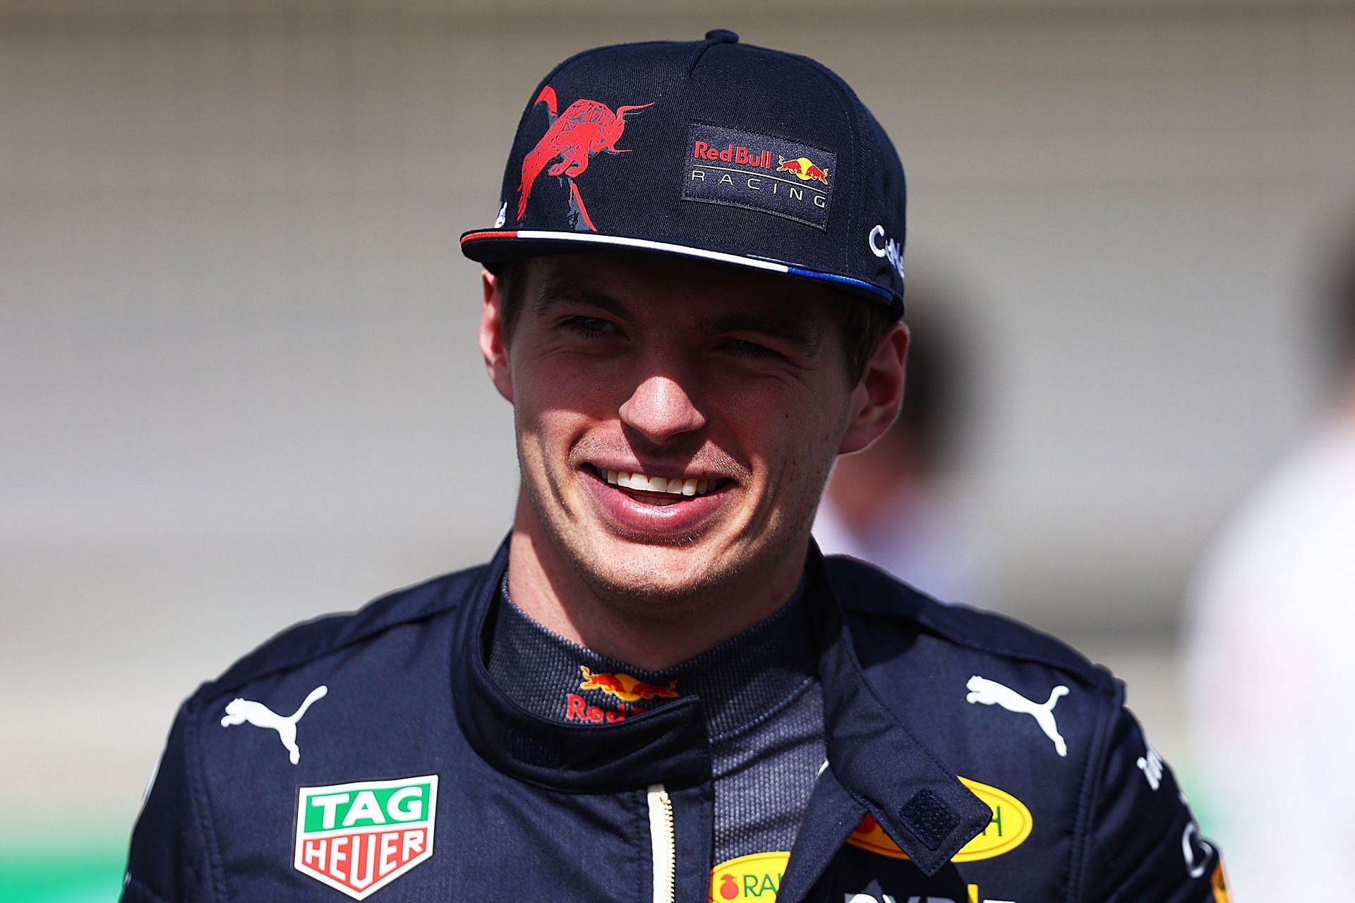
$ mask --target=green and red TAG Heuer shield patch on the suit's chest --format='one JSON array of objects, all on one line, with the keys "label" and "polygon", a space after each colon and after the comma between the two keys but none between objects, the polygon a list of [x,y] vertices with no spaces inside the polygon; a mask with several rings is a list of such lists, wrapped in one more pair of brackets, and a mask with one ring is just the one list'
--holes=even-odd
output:
[{"label": "green and red TAG Heuer shield patch on the suit's chest", "polygon": [[299,788],[293,865],[364,899],[432,856],[438,776]]}]

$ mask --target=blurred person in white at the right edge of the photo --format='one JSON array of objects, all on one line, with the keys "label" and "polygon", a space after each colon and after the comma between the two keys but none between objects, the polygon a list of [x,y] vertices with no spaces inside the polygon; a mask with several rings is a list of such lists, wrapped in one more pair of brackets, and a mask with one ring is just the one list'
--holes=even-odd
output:
[{"label": "blurred person in white at the right edge of the photo", "polygon": [[1332,401],[1228,523],[1188,607],[1201,786],[1243,900],[1355,885],[1355,230],[1336,264],[1321,323]]}]

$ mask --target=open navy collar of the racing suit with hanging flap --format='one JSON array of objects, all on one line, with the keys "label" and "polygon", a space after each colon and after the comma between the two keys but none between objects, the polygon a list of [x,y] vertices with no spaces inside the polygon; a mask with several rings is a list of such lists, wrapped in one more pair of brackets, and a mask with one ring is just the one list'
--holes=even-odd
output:
[{"label": "open navy collar of the racing suit with hanging flap", "polygon": [[[534,715],[499,687],[485,664],[488,620],[507,568],[504,541],[459,614],[453,698],[472,747],[500,771],[566,792],[709,782],[699,696],[625,721],[583,725]],[[798,899],[867,812],[923,873],[934,875],[988,826],[992,812],[867,682],[817,548],[810,548],[805,580],[818,645],[828,767],[814,785],[778,899]]]}]

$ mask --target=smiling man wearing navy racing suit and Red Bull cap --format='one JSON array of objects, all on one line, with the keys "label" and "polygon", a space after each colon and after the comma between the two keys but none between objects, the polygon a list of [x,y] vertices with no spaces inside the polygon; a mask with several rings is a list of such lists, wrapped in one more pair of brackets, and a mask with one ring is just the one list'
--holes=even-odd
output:
[{"label": "smiling man wearing navy racing suit and Red Bull cap", "polygon": [[1222,899],[1104,671],[810,544],[898,411],[902,233],[813,61],[711,31],[557,66],[462,237],[507,542],[199,689],[125,899]]}]

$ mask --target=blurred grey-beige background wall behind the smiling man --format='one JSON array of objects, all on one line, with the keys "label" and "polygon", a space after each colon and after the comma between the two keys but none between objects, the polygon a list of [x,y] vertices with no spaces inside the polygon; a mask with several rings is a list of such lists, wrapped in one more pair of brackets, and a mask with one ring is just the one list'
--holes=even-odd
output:
[{"label": "blurred grey-beige background wall behind the smiling man", "polygon": [[516,464],[459,233],[550,65],[713,27],[894,138],[967,601],[1125,677],[1192,792],[1191,574],[1325,404],[1355,4],[5,0],[0,898],[112,898],[196,683],[488,557]]}]

